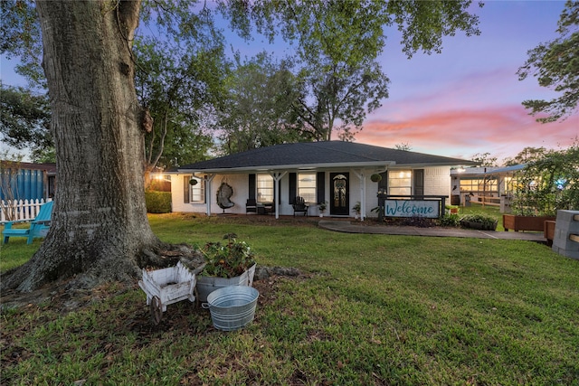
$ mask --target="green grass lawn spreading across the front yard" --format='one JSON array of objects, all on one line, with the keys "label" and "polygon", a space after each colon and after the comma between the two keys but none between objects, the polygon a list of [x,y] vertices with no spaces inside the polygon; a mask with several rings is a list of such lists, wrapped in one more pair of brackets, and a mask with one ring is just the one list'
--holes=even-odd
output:
[{"label": "green grass lawn spreading across the front yard", "polygon": [[[579,385],[579,261],[544,245],[149,219],[168,242],[233,231],[259,265],[306,275],[257,282],[256,319],[232,333],[186,301],[153,327],[136,285],[67,314],[3,310],[0,383]],[[2,269],[39,245],[11,240]]]}]

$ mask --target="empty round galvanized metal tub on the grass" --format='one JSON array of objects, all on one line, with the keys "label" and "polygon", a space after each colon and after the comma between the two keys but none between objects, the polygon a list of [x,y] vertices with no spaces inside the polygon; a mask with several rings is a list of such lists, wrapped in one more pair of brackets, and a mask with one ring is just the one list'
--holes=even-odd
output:
[{"label": "empty round galvanized metal tub on the grass", "polygon": [[215,328],[233,331],[252,323],[259,296],[253,287],[223,287],[209,294],[202,306],[209,308]]}]

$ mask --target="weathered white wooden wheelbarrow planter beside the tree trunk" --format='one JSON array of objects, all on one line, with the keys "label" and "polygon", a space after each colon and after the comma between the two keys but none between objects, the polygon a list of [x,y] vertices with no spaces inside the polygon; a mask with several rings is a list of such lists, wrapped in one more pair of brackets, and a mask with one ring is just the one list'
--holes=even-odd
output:
[{"label": "weathered white wooden wheelbarrow planter beside the tree trunk", "polygon": [[181,261],[175,267],[147,271],[143,269],[143,279],[138,281],[147,294],[147,306],[150,306],[153,297],[160,300],[162,312],[166,306],[181,300],[195,301],[195,274],[191,273]]}]

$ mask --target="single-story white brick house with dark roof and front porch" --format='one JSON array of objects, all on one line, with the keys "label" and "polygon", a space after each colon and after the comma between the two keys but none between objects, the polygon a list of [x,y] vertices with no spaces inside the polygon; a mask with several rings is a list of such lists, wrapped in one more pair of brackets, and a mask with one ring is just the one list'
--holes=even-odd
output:
[{"label": "single-story white brick house with dark roof and front porch", "polygon": [[[292,215],[296,197],[308,215],[364,219],[378,193],[403,197],[451,197],[451,167],[473,162],[439,155],[327,141],[284,144],[226,155],[170,173],[173,212]],[[371,181],[372,174],[382,179]],[[219,202],[218,202],[219,201]],[[377,214],[375,214],[377,215]]]}]

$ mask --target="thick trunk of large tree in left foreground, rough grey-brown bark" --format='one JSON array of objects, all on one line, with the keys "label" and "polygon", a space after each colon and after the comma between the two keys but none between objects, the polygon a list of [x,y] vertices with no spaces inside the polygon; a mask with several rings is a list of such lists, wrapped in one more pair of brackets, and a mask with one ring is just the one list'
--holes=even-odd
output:
[{"label": "thick trunk of large tree in left foreground, rough grey-brown bark", "polygon": [[142,252],[159,245],[147,221],[143,113],[130,49],[139,7],[139,1],[37,2],[58,186],[46,240],[3,287],[132,279]]}]

